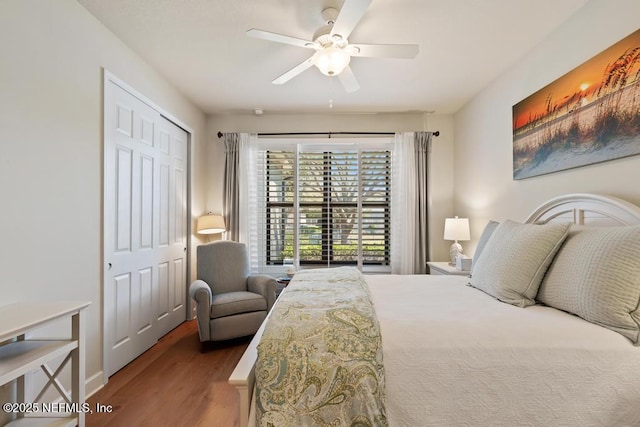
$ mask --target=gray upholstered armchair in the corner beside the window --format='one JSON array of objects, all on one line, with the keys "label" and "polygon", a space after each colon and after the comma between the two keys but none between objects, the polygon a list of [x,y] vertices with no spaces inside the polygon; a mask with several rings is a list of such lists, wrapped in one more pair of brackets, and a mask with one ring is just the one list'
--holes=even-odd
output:
[{"label": "gray upholstered armchair in the corner beside the window", "polygon": [[276,280],[250,275],[244,243],[198,246],[198,274],[189,287],[197,303],[200,342],[253,335],[276,299]]}]

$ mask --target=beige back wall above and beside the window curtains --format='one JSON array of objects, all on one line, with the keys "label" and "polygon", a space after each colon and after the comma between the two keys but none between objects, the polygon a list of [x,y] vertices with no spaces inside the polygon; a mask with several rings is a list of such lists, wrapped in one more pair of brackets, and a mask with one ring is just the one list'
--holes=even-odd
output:
[{"label": "beige back wall above and beside the window curtains", "polygon": [[434,259],[447,259],[449,244],[442,240],[444,218],[453,215],[453,117],[422,114],[318,114],[263,116],[217,115],[208,120],[209,181],[207,209],[222,211],[224,147],[220,132],[396,132],[440,131],[433,139],[430,246]]}]

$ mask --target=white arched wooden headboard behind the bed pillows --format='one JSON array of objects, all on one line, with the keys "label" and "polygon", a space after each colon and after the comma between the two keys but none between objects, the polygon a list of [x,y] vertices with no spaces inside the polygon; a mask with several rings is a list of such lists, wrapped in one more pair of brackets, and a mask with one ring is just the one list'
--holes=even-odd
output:
[{"label": "white arched wooden headboard behind the bed pillows", "polygon": [[637,225],[640,207],[612,196],[566,194],[540,205],[525,222],[572,222],[592,227]]}]

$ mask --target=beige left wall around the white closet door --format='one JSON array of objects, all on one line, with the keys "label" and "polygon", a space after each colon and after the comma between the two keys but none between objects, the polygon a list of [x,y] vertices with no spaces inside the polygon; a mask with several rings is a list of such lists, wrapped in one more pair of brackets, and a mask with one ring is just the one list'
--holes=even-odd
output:
[{"label": "beige left wall around the white closet door", "polygon": [[103,67],[194,131],[194,215],[206,118],[74,0],[2,0],[0,40],[0,305],[91,301],[91,392],[102,383]]}]

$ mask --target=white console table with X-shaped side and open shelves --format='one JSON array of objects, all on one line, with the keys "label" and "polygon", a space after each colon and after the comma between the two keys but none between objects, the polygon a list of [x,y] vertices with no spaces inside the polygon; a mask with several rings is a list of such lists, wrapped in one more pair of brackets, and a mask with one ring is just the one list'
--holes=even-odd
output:
[{"label": "white console table with X-shaped side and open shelves", "polygon": [[[29,301],[0,307],[0,385],[17,380],[17,401],[10,412],[17,414],[14,425],[84,426],[85,403],[85,308],[81,301]],[[70,339],[27,339],[25,334],[51,322],[71,318]],[[47,365],[57,357],[64,357],[61,365],[51,370]],[[71,361],[71,391],[68,392],[57,376]],[[33,401],[25,401],[25,374],[42,369],[48,378]],[[52,411],[39,402],[53,386],[62,397],[62,404],[73,409],[70,413]],[[46,404],[44,404],[46,405]],[[7,411],[5,411],[7,412]]]}]

